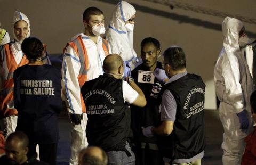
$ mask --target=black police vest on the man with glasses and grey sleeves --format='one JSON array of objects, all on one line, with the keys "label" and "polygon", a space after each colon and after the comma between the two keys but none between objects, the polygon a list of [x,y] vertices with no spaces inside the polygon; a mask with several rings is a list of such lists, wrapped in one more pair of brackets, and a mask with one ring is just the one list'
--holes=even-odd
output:
[{"label": "black police vest on the man with glasses and grey sleeves", "polygon": [[166,84],[177,103],[173,131],[161,138],[164,157],[189,159],[205,147],[204,94],[205,84],[200,76],[187,74]]}]

